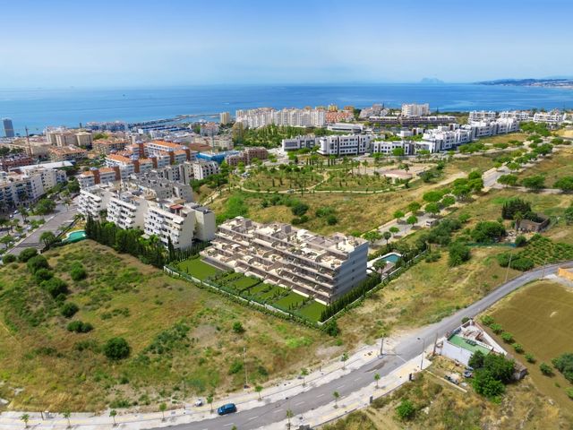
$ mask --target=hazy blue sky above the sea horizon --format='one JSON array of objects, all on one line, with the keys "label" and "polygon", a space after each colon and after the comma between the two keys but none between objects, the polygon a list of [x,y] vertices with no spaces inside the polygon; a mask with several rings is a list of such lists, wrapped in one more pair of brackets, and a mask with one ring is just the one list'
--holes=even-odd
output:
[{"label": "hazy blue sky above the sea horizon", "polygon": [[0,88],[573,74],[570,0],[0,0]]}]

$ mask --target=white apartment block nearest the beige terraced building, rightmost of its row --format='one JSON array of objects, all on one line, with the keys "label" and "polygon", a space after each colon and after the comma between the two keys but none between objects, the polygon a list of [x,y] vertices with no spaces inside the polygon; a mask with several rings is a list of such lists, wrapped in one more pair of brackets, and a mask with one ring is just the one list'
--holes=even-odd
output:
[{"label": "white apartment block nearest the beige terraced building, rightmost of its row", "polygon": [[175,249],[186,248],[194,239],[208,241],[215,237],[215,214],[195,203],[150,202],[144,217],[144,232],[147,236],[158,236],[165,246],[171,240]]}]

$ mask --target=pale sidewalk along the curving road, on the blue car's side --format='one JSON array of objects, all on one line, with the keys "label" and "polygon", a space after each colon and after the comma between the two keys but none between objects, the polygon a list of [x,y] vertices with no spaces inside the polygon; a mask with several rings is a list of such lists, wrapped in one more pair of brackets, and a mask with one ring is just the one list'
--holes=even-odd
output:
[{"label": "pale sidewalk along the curving road, on the blue car's side", "polygon": [[[397,340],[386,339],[384,341],[384,352],[389,353],[394,348]],[[118,415],[115,417],[115,422],[118,426],[130,429],[144,429],[160,426],[174,426],[176,424],[184,424],[190,422],[201,421],[203,419],[215,417],[216,409],[226,403],[235,403],[237,409],[240,411],[254,409],[266,403],[272,403],[278,400],[286,400],[292,398],[296,394],[304,391],[311,390],[314,387],[329,383],[338,379],[344,374],[350,373],[352,370],[362,367],[368,363],[372,363],[378,359],[380,352],[380,343],[378,345],[364,346],[358,349],[353,355],[349,356],[345,363],[338,357],[337,360],[330,362],[326,366],[321,366],[314,369],[312,373],[307,375],[304,380],[296,377],[295,379],[286,380],[284,383],[269,386],[261,391],[261,400],[259,394],[253,389],[242,393],[235,393],[231,396],[218,399],[213,402],[213,414],[210,412],[210,405],[205,404],[199,408],[189,404],[184,405],[183,408],[167,410],[165,413],[166,421],[162,420],[161,412],[151,413],[131,413]],[[419,363],[419,358],[417,363]],[[343,366],[344,365],[344,366]],[[344,368],[343,368],[344,367]],[[203,399],[203,401],[205,401]],[[342,404],[342,403],[341,403]],[[340,409],[342,410],[342,409]],[[0,414],[0,428],[24,428],[24,423],[21,421],[21,416],[24,412],[8,411]],[[46,429],[62,429],[68,427],[68,420],[62,414],[51,414],[52,417],[42,419],[38,412],[29,412],[30,421],[28,426]],[[46,414],[45,414],[46,415]],[[113,418],[109,417],[107,410],[102,415],[93,413],[73,413],[70,417],[70,424],[72,426],[81,426],[82,429],[106,429],[111,430],[113,426]]]}]

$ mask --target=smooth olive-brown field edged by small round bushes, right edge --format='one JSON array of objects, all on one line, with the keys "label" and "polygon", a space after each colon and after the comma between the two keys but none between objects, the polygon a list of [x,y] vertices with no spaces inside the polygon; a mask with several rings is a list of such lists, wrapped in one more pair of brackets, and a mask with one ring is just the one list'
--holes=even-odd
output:
[{"label": "smooth olive-brown field edged by small round bushes, right edge", "polygon": [[[517,355],[517,359],[526,365],[539,390],[571,411],[571,400],[565,393],[565,388],[571,384],[557,370],[552,377],[544,376],[539,370],[540,363],[551,366],[553,358],[573,352],[573,293],[570,288],[551,281],[535,282],[520,288],[486,314],[492,315],[504,331],[513,334],[525,353],[534,355],[535,364],[526,363],[522,355]],[[500,345],[507,346],[499,336],[491,334]]]}]

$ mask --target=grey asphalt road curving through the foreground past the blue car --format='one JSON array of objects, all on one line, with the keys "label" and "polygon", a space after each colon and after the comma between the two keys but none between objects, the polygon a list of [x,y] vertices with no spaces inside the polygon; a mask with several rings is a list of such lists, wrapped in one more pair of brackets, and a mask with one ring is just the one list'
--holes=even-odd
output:
[{"label": "grey asphalt road curving through the foreground past the blue car", "polygon": [[[415,331],[412,335],[400,340],[391,355],[385,355],[378,361],[360,367],[338,378],[338,380],[316,386],[290,399],[266,403],[259,408],[248,409],[243,412],[239,411],[224,417],[214,415],[213,418],[210,419],[171,426],[170,428],[176,428],[177,430],[214,430],[237,426],[241,430],[253,429],[284,420],[286,418],[287,409],[291,409],[294,412],[295,418],[293,419],[293,423],[295,424],[301,415],[304,416],[304,414],[312,413],[313,409],[317,409],[331,402],[333,400],[332,393],[334,391],[338,391],[340,397],[344,398],[351,392],[357,391],[372,383],[375,373],[381,374],[383,381],[384,376],[388,375],[407,360],[419,355],[423,345],[425,345],[427,349],[428,346],[433,344],[436,336],[441,337],[446,331],[452,331],[458,327],[462,318],[474,317],[476,314],[481,313],[484,309],[487,309],[499,301],[500,298],[507,296],[511,291],[532,280],[537,280],[542,276],[555,273],[557,272],[557,268],[563,265],[571,266],[573,265],[573,261],[550,264],[544,268],[523,273],[514,280],[509,280],[509,282],[493,290],[489,295],[478,300],[473,305],[444,318],[439,323],[424,326]],[[293,426],[293,428],[296,427]]]}]

